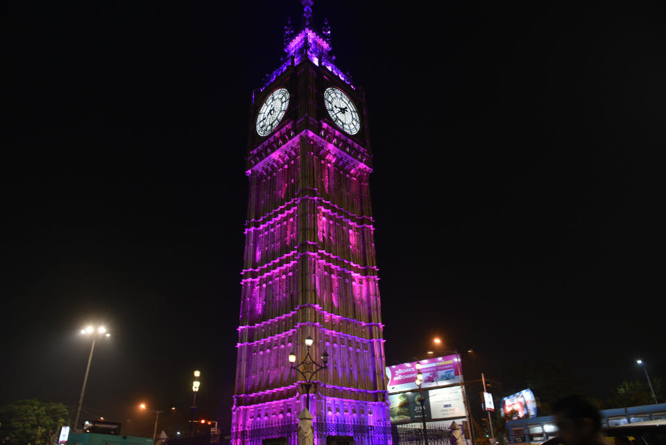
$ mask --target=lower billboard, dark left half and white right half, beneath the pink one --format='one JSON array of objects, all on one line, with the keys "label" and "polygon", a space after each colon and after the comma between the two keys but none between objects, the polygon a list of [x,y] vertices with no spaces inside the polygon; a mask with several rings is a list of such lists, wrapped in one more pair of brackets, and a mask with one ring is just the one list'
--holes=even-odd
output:
[{"label": "lower billboard, dark left half and white right half, beneath the pink one", "polygon": [[418,391],[388,394],[391,422],[410,423],[421,421],[422,410],[425,410],[426,421],[466,416],[462,387],[427,389],[423,390],[422,394],[424,399],[423,408],[421,408]]}]

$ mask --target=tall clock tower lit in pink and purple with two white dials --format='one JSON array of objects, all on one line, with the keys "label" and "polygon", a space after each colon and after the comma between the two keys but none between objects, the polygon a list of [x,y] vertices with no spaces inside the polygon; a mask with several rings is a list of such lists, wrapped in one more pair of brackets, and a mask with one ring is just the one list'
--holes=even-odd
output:
[{"label": "tall clock tower lit in pink and purple with two white dials", "polygon": [[315,444],[390,444],[366,104],[302,3],[301,31],[285,27],[282,65],[253,92],[232,443],[296,444],[306,396],[289,353],[300,362],[310,337],[312,357],[330,357],[310,390]]}]

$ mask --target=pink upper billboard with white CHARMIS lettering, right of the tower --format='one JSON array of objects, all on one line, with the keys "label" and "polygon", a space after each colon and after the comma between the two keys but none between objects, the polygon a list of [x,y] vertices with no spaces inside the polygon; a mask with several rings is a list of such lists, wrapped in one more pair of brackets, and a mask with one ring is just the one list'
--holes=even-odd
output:
[{"label": "pink upper billboard with white CHARMIS lettering, right of the tower", "polygon": [[[421,360],[423,383],[421,387],[437,387],[460,383],[460,363],[456,355]],[[418,389],[416,386],[416,362],[386,367],[388,393]]]}]

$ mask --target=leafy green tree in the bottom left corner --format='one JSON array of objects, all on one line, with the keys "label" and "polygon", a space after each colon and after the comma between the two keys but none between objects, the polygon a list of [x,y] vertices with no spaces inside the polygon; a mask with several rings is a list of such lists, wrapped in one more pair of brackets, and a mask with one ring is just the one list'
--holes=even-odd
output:
[{"label": "leafy green tree in the bottom left corner", "polygon": [[62,403],[19,400],[0,407],[0,443],[50,445],[58,429],[67,423]]}]

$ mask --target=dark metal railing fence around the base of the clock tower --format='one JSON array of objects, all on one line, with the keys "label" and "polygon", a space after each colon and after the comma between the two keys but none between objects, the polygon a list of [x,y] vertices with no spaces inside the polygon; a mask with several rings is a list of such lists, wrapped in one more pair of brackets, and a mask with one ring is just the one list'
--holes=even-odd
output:
[{"label": "dark metal railing fence around the base of the clock tower", "polygon": [[[422,445],[423,430],[406,426],[371,426],[359,423],[312,422],[314,445],[326,445],[327,437],[353,437],[355,445]],[[232,430],[232,445],[262,445],[264,439],[286,437],[289,445],[298,445],[298,421],[275,423],[262,428]],[[429,445],[456,445],[450,430],[438,427],[427,429]],[[461,445],[461,444],[457,444]]]}]

